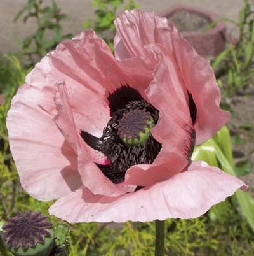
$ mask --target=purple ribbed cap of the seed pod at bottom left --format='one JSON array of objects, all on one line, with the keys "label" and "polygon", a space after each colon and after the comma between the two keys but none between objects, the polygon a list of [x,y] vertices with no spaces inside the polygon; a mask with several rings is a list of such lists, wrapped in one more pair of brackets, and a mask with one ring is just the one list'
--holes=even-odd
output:
[{"label": "purple ribbed cap of the seed pod at bottom left", "polygon": [[43,243],[46,236],[50,236],[48,229],[52,224],[48,222],[48,217],[39,212],[26,211],[18,212],[15,217],[8,218],[8,224],[3,226],[3,240],[8,247],[26,250],[37,243]]}]

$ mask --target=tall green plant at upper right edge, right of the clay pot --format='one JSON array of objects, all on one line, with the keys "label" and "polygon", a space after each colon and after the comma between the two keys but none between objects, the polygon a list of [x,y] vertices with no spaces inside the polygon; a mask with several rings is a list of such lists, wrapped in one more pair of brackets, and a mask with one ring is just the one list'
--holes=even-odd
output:
[{"label": "tall green plant at upper right edge, right of the clay pot", "polygon": [[[244,89],[254,76],[254,11],[252,9],[253,4],[249,0],[244,0],[244,6],[239,11],[237,22],[225,18],[220,19],[232,22],[239,31],[236,43],[229,43],[227,48],[212,62],[217,78],[226,75],[225,96],[233,96],[239,90]],[[220,20],[211,24],[210,27]]]}]

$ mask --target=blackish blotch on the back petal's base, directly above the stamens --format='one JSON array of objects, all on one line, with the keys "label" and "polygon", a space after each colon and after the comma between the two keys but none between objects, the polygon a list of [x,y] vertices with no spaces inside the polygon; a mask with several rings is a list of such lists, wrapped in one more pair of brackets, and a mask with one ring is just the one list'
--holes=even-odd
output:
[{"label": "blackish blotch on the back petal's base, directly above the stamens", "polygon": [[111,116],[117,110],[125,108],[130,101],[140,101],[142,99],[142,96],[137,90],[128,85],[123,85],[108,97]]}]

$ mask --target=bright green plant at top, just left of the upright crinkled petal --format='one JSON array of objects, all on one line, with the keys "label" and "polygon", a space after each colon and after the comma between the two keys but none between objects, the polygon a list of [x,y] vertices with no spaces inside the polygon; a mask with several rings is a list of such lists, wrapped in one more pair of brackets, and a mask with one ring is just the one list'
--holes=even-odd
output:
[{"label": "bright green plant at top, just left of the upright crinkled petal", "polygon": [[92,27],[112,49],[114,32],[116,31],[113,22],[116,18],[117,11],[138,8],[138,5],[133,0],[128,0],[128,3],[123,6],[125,2],[124,0],[93,0],[91,4],[96,8],[95,20],[86,20],[83,28],[88,29]]}]

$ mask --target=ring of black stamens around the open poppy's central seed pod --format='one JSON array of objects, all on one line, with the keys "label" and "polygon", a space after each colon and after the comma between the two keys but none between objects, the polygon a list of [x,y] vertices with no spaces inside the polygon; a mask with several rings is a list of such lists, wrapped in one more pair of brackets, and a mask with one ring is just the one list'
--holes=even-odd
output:
[{"label": "ring of black stamens around the open poppy's central seed pod", "polygon": [[150,113],[157,124],[159,119],[159,111],[144,99],[140,101],[130,101],[126,106],[113,113],[107,127],[105,127],[102,137],[100,138],[100,151],[110,160],[110,166],[100,166],[100,169],[107,178],[113,183],[121,183],[124,181],[124,176],[128,168],[135,164],[152,164],[161,150],[161,143],[150,134],[145,145],[124,145],[122,139],[117,134],[118,125],[123,115],[131,110],[145,110]]}]

